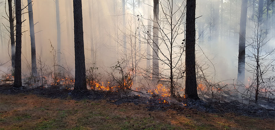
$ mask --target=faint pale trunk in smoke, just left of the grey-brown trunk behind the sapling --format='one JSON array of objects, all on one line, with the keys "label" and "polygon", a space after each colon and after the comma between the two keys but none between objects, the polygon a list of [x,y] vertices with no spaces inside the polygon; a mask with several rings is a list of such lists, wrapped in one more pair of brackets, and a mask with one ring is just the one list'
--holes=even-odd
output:
[{"label": "faint pale trunk in smoke, just left of the grey-brown trunk behind the sapling", "polygon": [[[151,0],[148,0],[148,5],[151,5]],[[151,65],[151,37],[150,36],[152,36],[151,35],[151,26],[152,26],[152,22],[151,22],[151,18],[150,18],[150,15],[151,15],[151,12],[152,11],[152,9],[150,8],[150,6],[148,6],[148,27],[147,27],[147,33],[148,33],[148,35],[147,35],[147,41],[148,41],[148,44],[147,44],[147,56],[146,56],[146,58],[147,58],[147,60],[146,60],[146,68],[147,69],[149,69],[149,67],[150,67],[150,65]]]}]

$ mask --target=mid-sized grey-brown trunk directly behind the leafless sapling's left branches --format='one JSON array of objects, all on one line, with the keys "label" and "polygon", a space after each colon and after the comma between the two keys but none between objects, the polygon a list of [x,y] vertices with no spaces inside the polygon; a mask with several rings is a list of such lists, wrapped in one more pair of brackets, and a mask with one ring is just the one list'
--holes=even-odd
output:
[{"label": "mid-sized grey-brown trunk directly behind the leafless sapling's left branches", "polygon": [[153,78],[158,78],[159,77],[159,25],[158,25],[158,20],[159,20],[159,0],[154,0],[154,19],[153,19]]}]

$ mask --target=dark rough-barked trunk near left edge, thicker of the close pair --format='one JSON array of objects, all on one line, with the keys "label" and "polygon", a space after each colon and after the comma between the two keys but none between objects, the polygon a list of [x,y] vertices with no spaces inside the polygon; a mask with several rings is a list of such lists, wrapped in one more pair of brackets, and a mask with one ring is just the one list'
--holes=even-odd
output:
[{"label": "dark rough-barked trunk near left edge, thicker of the close pair", "polygon": [[22,77],[21,77],[21,0],[16,0],[16,9],[15,9],[15,17],[16,17],[16,47],[15,47],[15,62],[14,62],[14,87],[22,86]]}]

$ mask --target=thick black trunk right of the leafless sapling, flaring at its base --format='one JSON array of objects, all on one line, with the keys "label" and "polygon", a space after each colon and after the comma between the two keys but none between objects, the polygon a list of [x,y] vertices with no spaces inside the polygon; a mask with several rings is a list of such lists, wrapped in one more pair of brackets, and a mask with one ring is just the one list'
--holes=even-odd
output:
[{"label": "thick black trunk right of the leafless sapling, flaring at its base", "polygon": [[196,81],[196,62],[195,62],[195,12],[196,1],[186,1],[186,55],[185,55],[185,96],[187,98],[199,99]]}]

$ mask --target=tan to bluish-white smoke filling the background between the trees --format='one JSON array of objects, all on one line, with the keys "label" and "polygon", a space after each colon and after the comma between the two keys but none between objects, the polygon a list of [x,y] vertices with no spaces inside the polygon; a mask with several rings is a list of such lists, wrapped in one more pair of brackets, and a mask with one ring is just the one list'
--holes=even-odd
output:
[{"label": "tan to bluish-white smoke filling the background between the trees", "polygon": [[[72,0],[59,0],[59,11],[57,10],[57,1],[33,1],[36,58],[37,61],[43,63],[43,66],[46,66],[45,69],[47,68],[51,72],[53,72],[54,66],[58,65],[58,69],[61,66],[61,68],[64,68],[62,71],[71,74],[70,76],[73,79],[75,54]],[[237,80],[241,0],[196,0],[196,2],[196,63],[204,70],[204,75],[208,82],[234,84]],[[101,81],[108,82],[108,74],[112,71],[111,67],[117,65],[118,61],[125,60],[127,62],[126,66],[134,66],[135,70],[138,70],[139,74],[135,72],[135,75],[138,75],[135,80],[145,81],[142,76],[146,73],[144,71],[148,60],[146,59],[147,40],[145,40],[147,36],[144,34],[146,31],[142,30],[142,28],[148,25],[148,19],[153,19],[152,3],[149,3],[148,0],[126,0],[125,14],[123,14],[122,0],[82,0],[86,70],[90,67],[98,67],[97,73],[101,73],[103,77]],[[165,0],[160,1],[160,3],[165,4]],[[174,0],[173,4],[175,7],[180,7],[180,11],[177,12],[173,20],[177,20],[182,13],[185,13],[185,3],[182,0]],[[270,1],[269,19],[266,19],[266,4],[264,3],[262,29],[267,29],[268,31],[266,31],[267,44],[263,48],[263,52],[269,52],[275,47],[274,2]],[[22,8],[27,5],[27,0],[22,0]],[[250,37],[254,37],[254,21],[257,16],[256,6],[258,5],[255,0],[248,1],[247,50],[249,49],[249,41],[251,41]],[[160,9],[160,17],[164,16],[163,11],[165,12],[165,10]],[[7,1],[0,0],[0,75],[11,74],[12,72],[9,21],[6,19],[8,17],[7,12]],[[22,21],[24,21],[22,23],[22,76],[25,77],[23,78],[25,81],[27,80],[26,77],[31,74],[30,27],[28,13],[26,12],[28,12],[28,7],[22,10]],[[57,17],[57,13],[59,13],[59,17]],[[123,16],[126,17],[125,26],[123,25]],[[183,16],[183,19],[185,19],[185,16]],[[57,24],[57,21],[60,24]],[[59,27],[61,34],[60,50],[57,47]],[[175,39],[179,46],[185,39],[184,22],[180,27],[183,33],[179,34]],[[126,35],[127,49],[123,46],[123,35]],[[135,45],[133,46],[133,44]],[[164,48],[165,45],[161,44],[160,48],[162,47]],[[133,50],[136,51],[134,54]],[[176,48],[174,51],[180,52],[180,50]],[[168,51],[163,51],[163,53],[168,55]],[[60,54],[60,59],[57,59],[56,54]],[[249,55],[249,52],[247,51],[246,54]],[[133,55],[135,57],[134,61]],[[274,53],[269,55],[271,59],[274,59],[274,57]],[[184,68],[185,56],[178,60],[182,61],[181,65]],[[152,65],[152,60],[150,65]],[[40,65],[38,62],[37,66],[39,69]],[[165,70],[167,66],[161,62],[160,68],[160,73],[169,73]],[[152,70],[149,69],[149,71]],[[272,71],[267,73],[266,77],[274,76],[274,69]],[[50,79],[52,74],[47,74],[47,76],[49,77],[46,78]],[[253,77],[252,74],[246,71],[246,80],[243,84],[249,86],[251,77]],[[198,78],[198,82],[199,80]],[[270,91],[274,92],[274,79],[270,80],[273,81],[270,84],[272,86]],[[184,88],[184,78],[175,82],[181,84],[180,86]],[[147,82],[141,84],[151,88]],[[134,85],[139,87],[138,84]],[[233,86],[229,88],[234,90]]]}]

